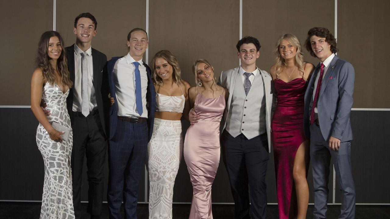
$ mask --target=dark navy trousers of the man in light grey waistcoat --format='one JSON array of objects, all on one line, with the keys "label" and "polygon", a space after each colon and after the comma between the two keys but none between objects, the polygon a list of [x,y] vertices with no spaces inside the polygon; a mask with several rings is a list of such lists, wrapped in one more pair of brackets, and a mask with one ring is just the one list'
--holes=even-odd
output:
[{"label": "dark navy trousers of the man in light grey waistcoat", "polygon": [[[234,138],[224,130],[221,146],[234,199],[234,218],[265,219],[269,160],[267,133],[248,140],[243,134]],[[249,192],[252,203],[250,211]]]}]

